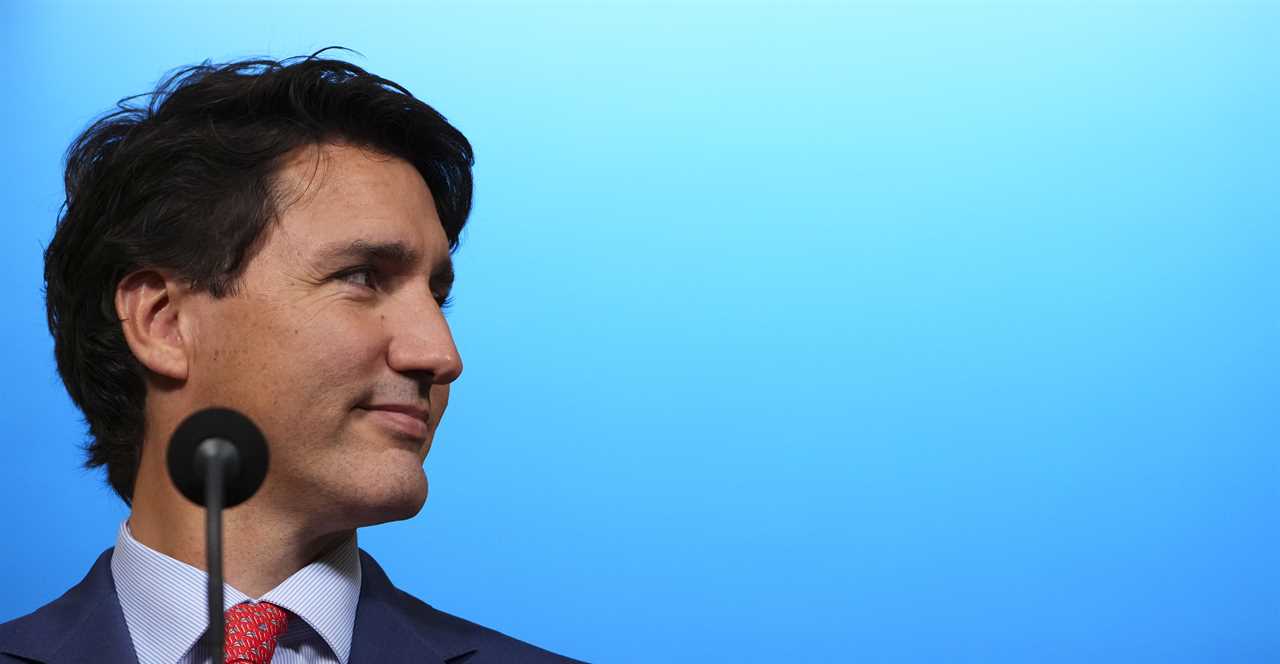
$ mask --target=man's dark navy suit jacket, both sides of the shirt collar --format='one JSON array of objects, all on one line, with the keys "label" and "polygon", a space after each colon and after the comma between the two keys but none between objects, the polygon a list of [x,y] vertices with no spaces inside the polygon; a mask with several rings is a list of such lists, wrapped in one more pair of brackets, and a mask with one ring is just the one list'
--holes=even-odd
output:
[{"label": "man's dark navy suit jacket, both sides of the shirt collar", "polygon": [[[360,604],[349,664],[564,664],[576,660],[433,609],[401,591],[360,551]],[[83,581],[29,615],[0,624],[0,664],[137,664],[115,596],[111,549]]]}]

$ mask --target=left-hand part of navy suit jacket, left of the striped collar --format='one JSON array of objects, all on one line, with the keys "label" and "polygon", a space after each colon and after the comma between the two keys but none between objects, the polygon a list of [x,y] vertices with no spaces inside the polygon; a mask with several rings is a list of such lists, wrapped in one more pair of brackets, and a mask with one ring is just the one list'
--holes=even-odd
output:
[{"label": "left-hand part of navy suit jacket, left of the striped collar", "polygon": [[111,551],[61,597],[9,626],[0,652],[47,664],[137,664],[111,578]]}]

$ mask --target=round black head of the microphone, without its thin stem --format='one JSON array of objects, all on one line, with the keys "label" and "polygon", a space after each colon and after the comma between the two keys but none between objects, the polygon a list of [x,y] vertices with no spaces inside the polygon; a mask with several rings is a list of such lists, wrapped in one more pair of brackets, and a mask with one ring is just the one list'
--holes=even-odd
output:
[{"label": "round black head of the microphone, without its thin stem", "polygon": [[223,439],[236,448],[238,463],[227,472],[224,507],[236,507],[253,495],[266,478],[266,439],[252,420],[230,408],[206,408],[178,425],[169,440],[169,477],[182,495],[205,505],[205,473],[197,462],[200,444]]}]

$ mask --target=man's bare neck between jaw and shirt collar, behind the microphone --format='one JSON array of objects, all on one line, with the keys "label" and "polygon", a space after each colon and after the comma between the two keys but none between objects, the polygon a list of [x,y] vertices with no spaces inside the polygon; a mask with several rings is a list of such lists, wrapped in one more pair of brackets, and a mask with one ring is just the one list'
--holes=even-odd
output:
[{"label": "man's bare neck between jaw and shirt collar, behind the microphone", "polygon": [[[155,452],[155,447],[143,447],[129,514],[133,539],[207,571],[205,509],[174,489],[163,454]],[[250,597],[261,597],[355,534],[355,528],[321,528],[298,514],[273,509],[270,493],[264,486],[246,503],[223,512],[223,577]]]}]

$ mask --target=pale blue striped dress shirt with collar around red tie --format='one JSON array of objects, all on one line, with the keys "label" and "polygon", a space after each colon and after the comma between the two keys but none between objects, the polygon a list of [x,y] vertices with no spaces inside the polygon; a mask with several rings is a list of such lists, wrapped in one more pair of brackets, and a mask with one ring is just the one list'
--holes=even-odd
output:
[{"label": "pale blue striped dress shirt with collar around red tie", "polygon": [[[201,638],[209,628],[207,574],[133,539],[120,523],[111,576],[138,664],[210,664]],[[293,613],[275,646],[273,664],[347,664],[360,601],[356,537],[251,599],[223,586],[224,605],[270,601]],[[220,664],[220,663],[219,663]]]}]

